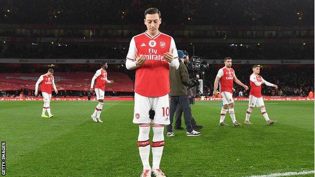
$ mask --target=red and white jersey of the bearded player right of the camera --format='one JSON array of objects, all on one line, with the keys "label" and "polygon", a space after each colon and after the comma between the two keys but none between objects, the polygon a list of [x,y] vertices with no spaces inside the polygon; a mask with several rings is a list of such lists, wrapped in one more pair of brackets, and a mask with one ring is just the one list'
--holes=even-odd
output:
[{"label": "red and white jersey of the bearded player right of the camera", "polygon": [[218,71],[217,77],[220,78],[220,92],[230,92],[233,94],[233,79],[235,72],[232,68],[221,68]]}]

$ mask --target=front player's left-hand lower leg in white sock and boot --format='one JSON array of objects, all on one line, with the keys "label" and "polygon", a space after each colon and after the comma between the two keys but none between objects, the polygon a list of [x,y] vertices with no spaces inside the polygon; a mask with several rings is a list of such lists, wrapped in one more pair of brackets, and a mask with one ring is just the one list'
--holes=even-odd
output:
[{"label": "front player's left-hand lower leg in white sock and boot", "polygon": [[151,167],[149,164],[150,156],[150,123],[139,124],[139,136],[138,136],[138,147],[139,154],[143,165],[143,172],[140,177],[150,177]]}]

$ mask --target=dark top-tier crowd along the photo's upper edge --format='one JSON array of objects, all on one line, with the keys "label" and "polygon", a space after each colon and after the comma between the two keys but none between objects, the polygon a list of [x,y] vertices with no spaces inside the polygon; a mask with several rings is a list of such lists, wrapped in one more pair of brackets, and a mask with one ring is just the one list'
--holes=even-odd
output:
[{"label": "dark top-tier crowd along the photo's upper edge", "polygon": [[143,12],[156,7],[164,24],[193,25],[313,25],[314,3],[228,0],[62,1],[3,0],[0,23],[22,24],[139,24]]}]

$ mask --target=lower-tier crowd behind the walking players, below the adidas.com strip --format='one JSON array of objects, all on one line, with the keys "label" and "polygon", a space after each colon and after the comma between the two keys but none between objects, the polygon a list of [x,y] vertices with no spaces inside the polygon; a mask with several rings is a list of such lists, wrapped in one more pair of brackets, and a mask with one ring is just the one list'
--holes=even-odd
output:
[{"label": "lower-tier crowd behind the walking players, below the adidas.com strip", "polygon": [[[95,72],[98,69],[98,65],[56,65],[55,71],[58,72]],[[223,67],[223,65],[222,65]],[[234,68],[235,67],[235,68]],[[234,68],[237,78],[245,85],[250,86],[249,76],[252,74],[251,65],[232,66]],[[1,73],[38,73],[43,74],[47,72],[49,66],[43,65],[42,67],[31,67],[31,64],[24,64],[19,68],[1,67]],[[218,65],[209,66],[205,70],[204,74],[204,91],[203,94],[212,96],[213,84],[218,72]],[[129,71],[124,65],[109,65],[108,71],[122,72],[127,74],[134,81],[134,71]],[[281,73],[281,74],[280,74]],[[263,85],[262,93],[266,96],[301,96],[305,97],[313,90],[314,85],[314,68],[312,66],[274,66],[264,67],[260,70],[260,75],[268,82],[278,85],[278,89]],[[243,92],[243,96],[248,96],[249,91],[244,91],[243,88],[234,84],[234,96],[239,96],[239,92]],[[10,91],[2,93],[1,95],[8,94],[19,96],[22,92],[23,96],[33,96],[34,91],[21,88],[21,91]],[[80,91],[61,91],[57,96],[86,96],[87,92]],[[132,93],[122,92],[107,92],[108,96],[122,96],[132,95]]]}]

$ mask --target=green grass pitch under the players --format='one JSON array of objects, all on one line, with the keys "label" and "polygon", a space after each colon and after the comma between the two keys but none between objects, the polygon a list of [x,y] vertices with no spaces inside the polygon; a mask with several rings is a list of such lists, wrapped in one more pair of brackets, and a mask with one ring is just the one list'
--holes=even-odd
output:
[{"label": "green grass pitch under the players", "polygon": [[[0,102],[0,140],[6,141],[7,176],[140,176],[138,126],[133,101],[106,101],[104,122],[92,122],[94,101],[51,101],[53,119],[41,118],[42,101]],[[221,101],[196,101],[200,137],[174,131],[165,137],[161,169],[175,176],[248,176],[314,170],[314,102],[265,101],[278,123],[267,126],[260,110],[253,126],[218,126]],[[243,123],[247,101],[235,102]],[[183,125],[184,127],[184,125]],[[150,140],[152,139],[150,132]],[[150,162],[152,161],[150,157]],[[303,176],[313,176],[303,175]]]}]

